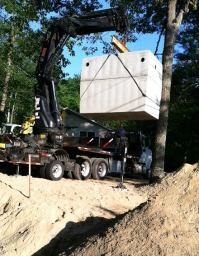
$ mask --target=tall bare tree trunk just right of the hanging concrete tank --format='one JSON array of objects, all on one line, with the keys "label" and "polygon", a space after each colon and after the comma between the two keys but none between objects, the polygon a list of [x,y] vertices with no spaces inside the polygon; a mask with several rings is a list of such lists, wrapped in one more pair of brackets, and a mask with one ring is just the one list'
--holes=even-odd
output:
[{"label": "tall bare tree trunk just right of the hanging concrete tank", "polygon": [[173,52],[177,32],[179,31],[184,13],[184,10],[181,9],[179,14],[176,16],[177,0],[168,0],[167,5],[167,24],[163,49],[163,88],[161,93],[160,115],[157,122],[154,160],[150,179],[151,183],[160,179],[161,177],[164,177],[164,156],[171,91]]}]

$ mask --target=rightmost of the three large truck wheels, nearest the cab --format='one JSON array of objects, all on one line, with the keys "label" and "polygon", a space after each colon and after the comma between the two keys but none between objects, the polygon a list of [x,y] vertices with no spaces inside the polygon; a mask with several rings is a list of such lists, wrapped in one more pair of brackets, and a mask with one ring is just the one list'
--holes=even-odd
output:
[{"label": "rightmost of the three large truck wheels, nearest the cab", "polygon": [[93,179],[105,180],[108,174],[108,164],[103,158],[97,158],[93,162],[92,176]]}]

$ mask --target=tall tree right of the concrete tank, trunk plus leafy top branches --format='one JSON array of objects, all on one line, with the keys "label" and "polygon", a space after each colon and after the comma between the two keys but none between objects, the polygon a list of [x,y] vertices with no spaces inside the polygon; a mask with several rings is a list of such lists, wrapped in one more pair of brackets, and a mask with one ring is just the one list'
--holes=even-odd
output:
[{"label": "tall tree right of the concrete tank, trunk plus leafy top branches", "polygon": [[[110,1],[118,5],[121,1]],[[184,13],[189,7],[196,9],[197,0],[167,0],[167,1],[122,1],[128,3],[130,9],[130,24],[135,32],[158,32],[164,35],[163,49],[163,89],[161,94],[160,115],[157,121],[157,131],[154,147],[154,160],[151,171],[151,182],[164,176],[165,143],[167,137],[168,108],[170,100],[172,63],[177,33],[183,21]]]}]

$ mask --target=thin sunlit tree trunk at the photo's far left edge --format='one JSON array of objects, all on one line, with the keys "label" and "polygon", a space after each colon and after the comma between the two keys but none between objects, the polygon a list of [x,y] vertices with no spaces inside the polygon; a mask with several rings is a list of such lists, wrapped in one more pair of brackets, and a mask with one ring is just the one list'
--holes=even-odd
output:
[{"label": "thin sunlit tree trunk at the photo's far left edge", "polygon": [[14,28],[11,28],[10,31],[10,44],[9,44],[9,52],[7,55],[7,73],[5,76],[5,80],[3,83],[3,90],[2,90],[2,101],[0,104],[0,126],[2,126],[2,117],[3,117],[3,112],[5,110],[5,106],[6,106],[6,101],[7,101],[7,92],[9,89],[9,81],[10,81],[10,77],[11,77],[11,64],[12,64],[12,54],[14,51],[14,43],[15,43],[15,34],[14,34]]}]

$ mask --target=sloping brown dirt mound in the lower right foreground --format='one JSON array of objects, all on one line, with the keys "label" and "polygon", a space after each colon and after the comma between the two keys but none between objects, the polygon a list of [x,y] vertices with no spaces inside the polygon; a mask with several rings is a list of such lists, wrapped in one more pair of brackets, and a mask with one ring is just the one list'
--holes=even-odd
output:
[{"label": "sloping brown dirt mound in the lower right foreground", "polygon": [[199,164],[185,164],[160,184],[140,188],[145,203],[78,247],[64,250],[62,244],[59,255],[199,255],[198,180]]}]

